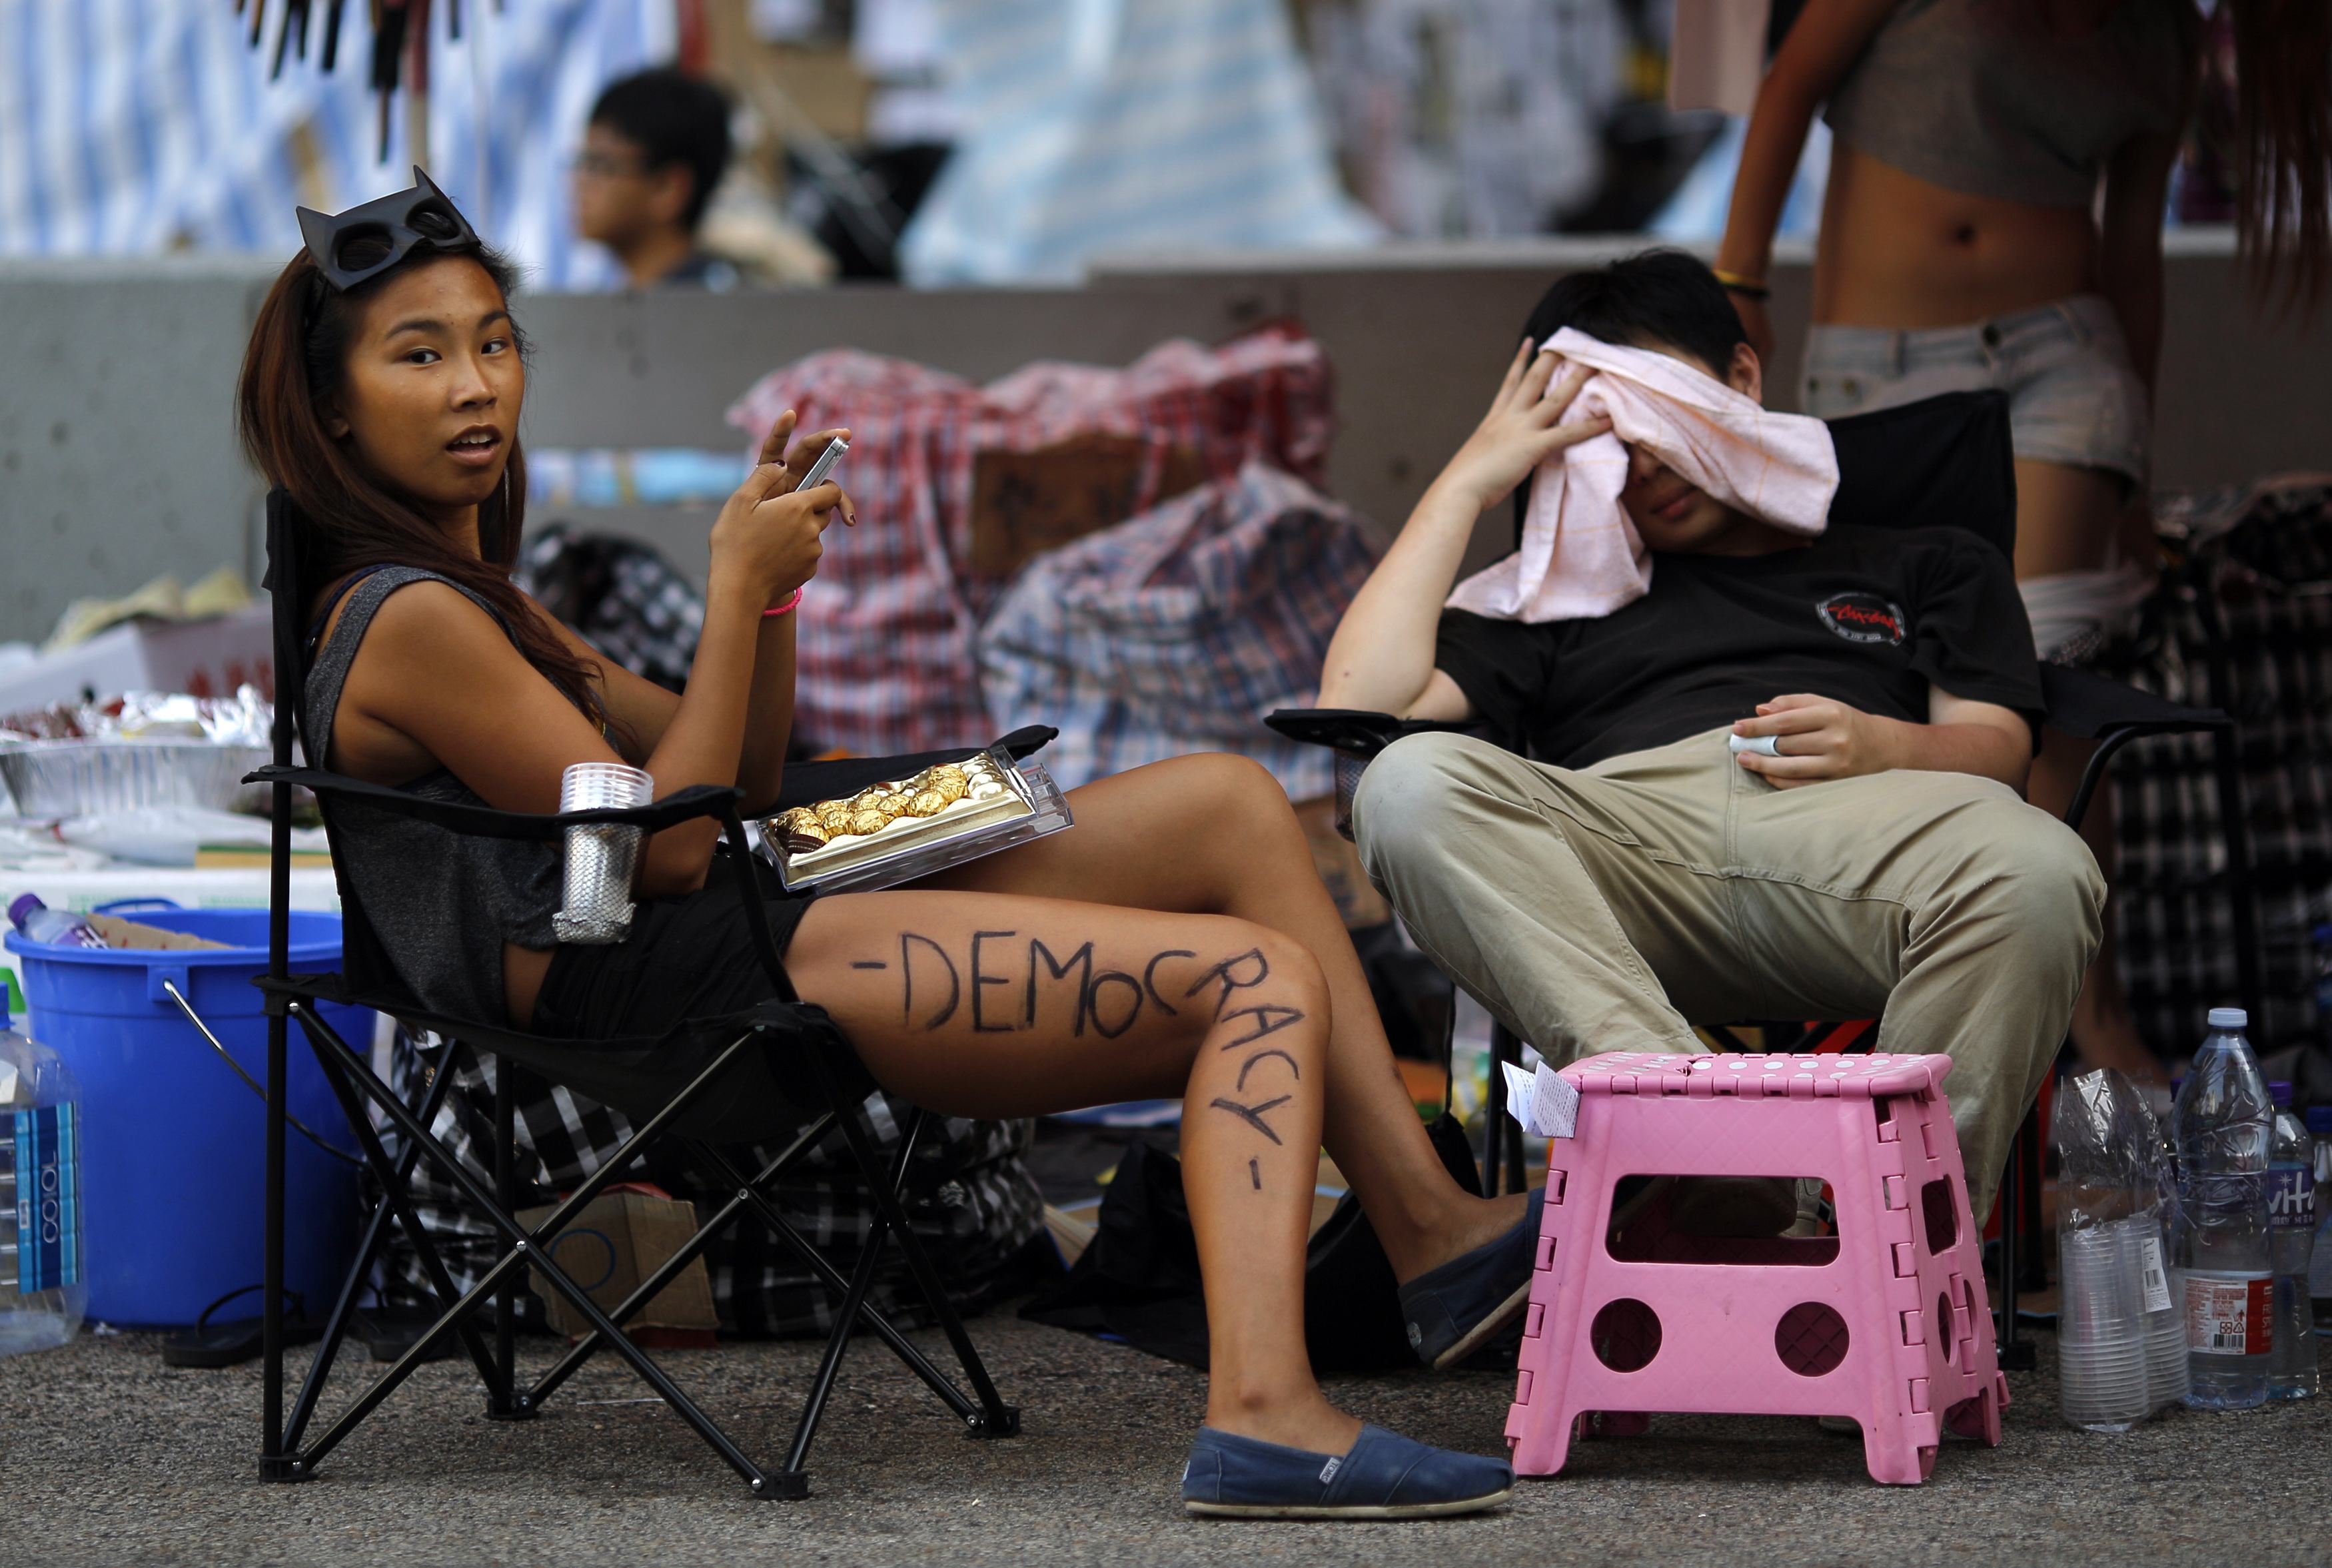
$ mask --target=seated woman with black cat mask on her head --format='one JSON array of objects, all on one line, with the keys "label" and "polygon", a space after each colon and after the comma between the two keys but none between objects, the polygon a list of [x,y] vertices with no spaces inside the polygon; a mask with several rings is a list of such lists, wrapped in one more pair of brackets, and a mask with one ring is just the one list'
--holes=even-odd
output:
[{"label": "seated woman with black cat mask on her head", "polygon": [[[303,515],[312,762],[441,799],[548,813],[574,762],[658,792],[777,799],[793,617],[840,513],[798,478],[793,415],[711,529],[704,636],[676,697],[592,652],[511,585],[525,508],[525,340],[513,273],[422,182],[340,219],[259,312],[240,419]],[[1213,1342],[1194,1512],[1409,1517],[1506,1496],[1502,1461],[1427,1449],[1334,1410],[1304,1351],[1304,1246],[1322,1139],[1448,1365],[1511,1323],[1537,1198],[1476,1200],[1441,1167],[1369,986],[1278,785],[1185,757],[1077,790],[1077,829],[888,892],[772,899],[786,969],[872,1079],[951,1116],[1185,1095],[1182,1163]],[[378,827],[373,827],[378,822]],[[718,822],[655,834],[616,946],[560,946],[548,846],[385,815],[338,825],[399,979],[431,1009],[534,1034],[655,1034],[772,995]],[[807,1118],[807,1116],[805,1116]],[[770,1128],[770,1137],[784,1135]],[[1334,1456],[1334,1458],[1332,1458]]]}]

